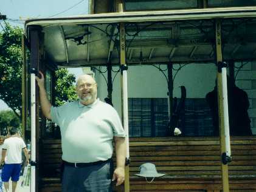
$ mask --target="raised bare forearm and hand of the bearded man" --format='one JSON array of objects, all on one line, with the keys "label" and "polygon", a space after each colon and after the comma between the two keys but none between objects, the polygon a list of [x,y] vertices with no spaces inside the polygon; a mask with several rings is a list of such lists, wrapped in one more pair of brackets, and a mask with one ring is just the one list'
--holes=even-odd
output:
[{"label": "raised bare forearm and hand of the bearded man", "polygon": [[46,116],[47,119],[52,119],[50,116],[50,107],[52,107],[52,104],[50,104],[48,98],[46,89],[44,88],[44,74],[39,71],[41,78],[35,77],[38,87],[39,87],[39,94],[40,94],[40,103],[41,108],[43,111],[44,116]]}]

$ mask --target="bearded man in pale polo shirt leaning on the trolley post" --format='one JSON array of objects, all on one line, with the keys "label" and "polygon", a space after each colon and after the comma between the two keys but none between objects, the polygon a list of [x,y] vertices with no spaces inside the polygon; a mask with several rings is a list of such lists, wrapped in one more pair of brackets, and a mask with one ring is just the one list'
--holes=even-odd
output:
[{"label": "bearded man in pale polo shirt leaning on the trolley post", "polygon": [[[111,180],[125,177],[125,133],[117,111],[97,99],[97,84],[88,74],[77,79],[79,101],[52,107],[44,88],[44,75],[36,77],[44,116],[60,126],[64,172],[63,192],[109,192]],[[112,140],[117,167],[112,174]]]}]

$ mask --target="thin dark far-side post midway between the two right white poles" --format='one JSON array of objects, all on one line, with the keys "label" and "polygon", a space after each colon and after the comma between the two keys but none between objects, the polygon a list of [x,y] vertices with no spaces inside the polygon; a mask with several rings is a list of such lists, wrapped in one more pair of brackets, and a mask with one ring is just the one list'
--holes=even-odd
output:
[{"label": "thin dark far-side post midway between the two right white poles", "polygon": [[169,121],[173,114],[173,63],[167,64],[168,71],[168,114]]}]

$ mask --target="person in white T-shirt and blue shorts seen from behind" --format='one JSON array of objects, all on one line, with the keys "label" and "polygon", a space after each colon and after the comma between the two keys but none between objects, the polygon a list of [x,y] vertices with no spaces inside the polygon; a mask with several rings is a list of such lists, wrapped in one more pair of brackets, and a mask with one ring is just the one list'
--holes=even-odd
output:
[{"label": "person in white T-shirt and blue shorts seen from behind", "polygon": [[[4,162],[2,168],[2,181],[4,182],[5,191],[9,192],[9,179],[12,177],[12,191],[15,192],[19,174],[21,173],[21,153],[22,150],[26,156],[26,163],[29,164],[29,153],[23,139],[18,135],[18,131],[14,128],[10,130],[10,137],[5,139],[2,145],[2,159]],[[5,158],[6,157],[6,158]]]}]

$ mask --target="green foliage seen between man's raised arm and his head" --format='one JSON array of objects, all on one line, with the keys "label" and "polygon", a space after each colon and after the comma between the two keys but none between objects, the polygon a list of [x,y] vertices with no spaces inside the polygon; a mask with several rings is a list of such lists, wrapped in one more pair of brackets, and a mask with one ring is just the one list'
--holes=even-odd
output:
[{"label": "green foliage seen between man's raised arm and his head", "polygon": [[57,82],[55,85],[55,105],[63,105],[68,101],[75,101],[78,99],[75,93],[75,76],[69,74],[66,68],[60,68],[55,71]]}]

